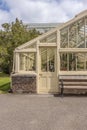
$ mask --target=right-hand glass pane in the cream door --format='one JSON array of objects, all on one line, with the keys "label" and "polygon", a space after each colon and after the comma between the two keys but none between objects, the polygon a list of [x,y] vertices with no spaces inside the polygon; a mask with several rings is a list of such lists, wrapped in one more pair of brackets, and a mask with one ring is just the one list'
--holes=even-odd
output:
[{"label": "right-hand glass pane in the cream door", "polygon": [[48,49],[48,71],[50,72],[55,71],[55,49],[54,48]]}]

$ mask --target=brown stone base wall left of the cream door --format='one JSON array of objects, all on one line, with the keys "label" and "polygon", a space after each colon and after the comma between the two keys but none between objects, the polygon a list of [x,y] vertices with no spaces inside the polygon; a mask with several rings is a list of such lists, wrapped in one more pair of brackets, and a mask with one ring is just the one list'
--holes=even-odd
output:
[{"label": "brown stone base wall left of the cream door", "polygon": [[11,80],[14,93],[36,93],[36,75],[13,74]]}]

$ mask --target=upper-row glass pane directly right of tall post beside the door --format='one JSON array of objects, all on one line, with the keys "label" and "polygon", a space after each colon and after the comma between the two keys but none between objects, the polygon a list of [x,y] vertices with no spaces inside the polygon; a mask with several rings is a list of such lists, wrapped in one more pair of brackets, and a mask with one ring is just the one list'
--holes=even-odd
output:
[{"label": "upper-row glass pane directly right of tall post beside the door", "polygon": [[68,28],[64,28],[60,31],[60,39],[61,39],[61,48],[67,48],[68,47]]}]

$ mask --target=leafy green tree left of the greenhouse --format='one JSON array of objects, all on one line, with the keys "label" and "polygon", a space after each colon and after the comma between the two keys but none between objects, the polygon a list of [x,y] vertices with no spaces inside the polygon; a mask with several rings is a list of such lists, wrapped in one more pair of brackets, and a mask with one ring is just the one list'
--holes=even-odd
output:
[{"label": "leafy green tree left of the greenhouse", "polygon": [[0,30],[0,66],[3,71],[10,74],[14,49],[37,37],[40,33],[35,29],[29,30],[18,18],[15,22],[4,23],[2,28]]}]

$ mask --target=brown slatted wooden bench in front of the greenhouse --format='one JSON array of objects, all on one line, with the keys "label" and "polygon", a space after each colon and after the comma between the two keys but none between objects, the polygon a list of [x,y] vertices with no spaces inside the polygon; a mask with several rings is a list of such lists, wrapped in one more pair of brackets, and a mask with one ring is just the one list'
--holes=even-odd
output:
[{"label": "brown slatted wooden bench in front of the greenhouse", "polygon": [[87,75],[59,75],[59,87],[62,96],[64,89],[87,90]]}]

